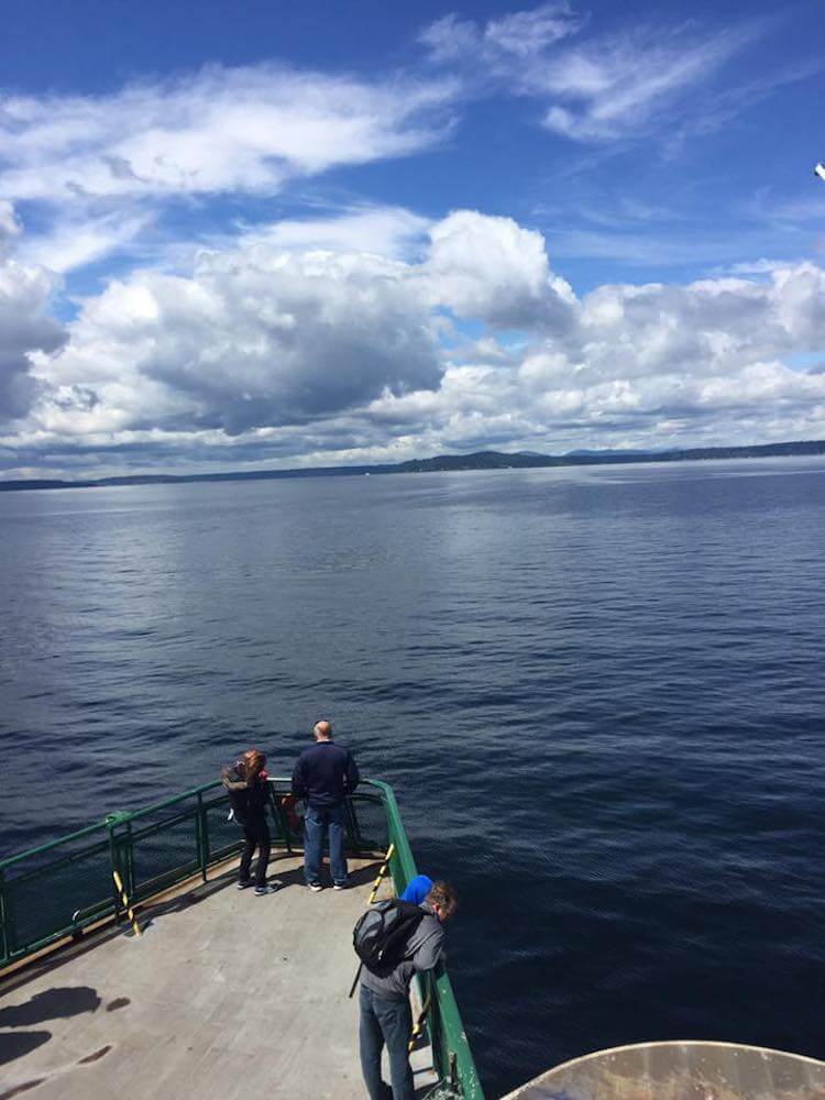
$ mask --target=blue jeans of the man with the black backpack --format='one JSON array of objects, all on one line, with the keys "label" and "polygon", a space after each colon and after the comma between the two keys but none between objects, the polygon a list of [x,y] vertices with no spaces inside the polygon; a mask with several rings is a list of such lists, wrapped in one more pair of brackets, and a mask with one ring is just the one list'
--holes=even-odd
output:
[{"label": "blue jeans of the man with the black backpack", "polygon": [[361,1025],[361,1072],[364,1075],[370,1100],[387,1100],[387,1087],[381,1077],[381,1052],[386,1043],[389,1055],[389,1079],[393,1100],[415,1100],[413,1070],[409,1068],[407,1044],[413,1031],[409,1001],[392,1001],[376,997],[366,986],[359,994]]}]

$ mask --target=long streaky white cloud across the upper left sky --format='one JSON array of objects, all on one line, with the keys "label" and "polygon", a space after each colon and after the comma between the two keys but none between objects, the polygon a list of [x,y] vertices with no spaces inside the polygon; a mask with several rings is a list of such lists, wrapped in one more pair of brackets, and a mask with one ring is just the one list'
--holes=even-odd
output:
[{"label": "long streaky white cloud across the upper left sky", "polygon": [[289,178],[432,144],[452,90],[449,80],[369,84],[258,66],[111,96],[7,96],[0,194],[47,202],[271,194]]}]

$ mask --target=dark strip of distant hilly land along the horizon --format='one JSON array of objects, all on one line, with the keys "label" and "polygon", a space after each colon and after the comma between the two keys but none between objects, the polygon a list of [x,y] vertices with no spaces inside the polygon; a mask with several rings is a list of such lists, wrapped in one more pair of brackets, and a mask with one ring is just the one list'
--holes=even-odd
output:
[{"label": "dark strip of distant hilly land along the horizon", "polygon": [[438,454],[432,459],[371,466],[314,466],[306,470],[250,470],[212,474],[125,474],[94,481],[2,481],[0,492],[32,488],[97,488],[103,485],[165,485],[184,482],[270,481],[278,477],[352,477],[364,474],[419,474],[460,470],[527,470],[540,466],[598,466],[638,462],[690,462],[707,459],[771,459],[825,454],[825,440],[763,443],[752,447],[695,447],[671,451],[570,451],[566,454],[534,454],[530,451],[474,451],[472,454]]}]

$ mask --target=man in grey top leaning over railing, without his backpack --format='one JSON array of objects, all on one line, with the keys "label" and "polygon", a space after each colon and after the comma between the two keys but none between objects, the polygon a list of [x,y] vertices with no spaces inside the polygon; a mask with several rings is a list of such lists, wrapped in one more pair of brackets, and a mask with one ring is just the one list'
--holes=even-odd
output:
[{"label": "man in grey top leaning over railing, without his backpack", "polygon": [[[387,975],[364,967],[359,994],[361,1071],[370,1100],[415,1100],[407,1044],[413,1030],[409,983],[414,974],[431,970],[441,958],[444,924],[458,898],[447,882],[433,882],[421,902],[424,917],[409,935],[402,960]],[[389,1055],[392,1090],[381,1076],[381,1052]]]}]

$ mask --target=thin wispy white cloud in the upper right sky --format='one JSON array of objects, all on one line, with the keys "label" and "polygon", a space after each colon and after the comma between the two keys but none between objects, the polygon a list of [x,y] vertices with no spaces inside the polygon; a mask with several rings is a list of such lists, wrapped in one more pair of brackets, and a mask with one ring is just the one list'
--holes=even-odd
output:
[{"label": "thin wispy white cloud in the upper right sky", "polygon": [[[767,75],[706,95],[723,65],[763,31],[751,21],[723,31],[639,24],[571,43],[588,24],[569,3],[546,3],[480,24],[446,15],[419,41],[435,64],[457,67],[465,94],[490,88],[543,105],[542,123],[576,142],[609,143],[667,129],[674,139],[708,133],[796,74]],[[810,76],[813,69],[806,69]],[[697,109],[697,103],[701,108]]]}]

